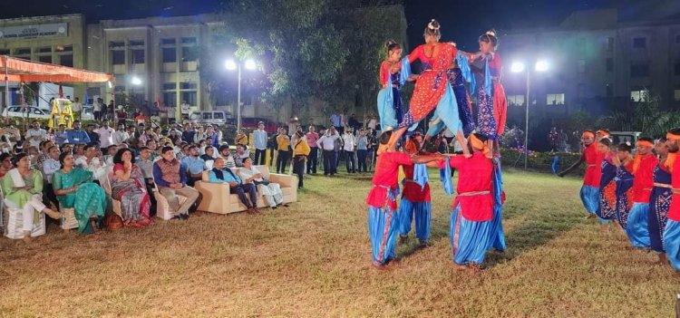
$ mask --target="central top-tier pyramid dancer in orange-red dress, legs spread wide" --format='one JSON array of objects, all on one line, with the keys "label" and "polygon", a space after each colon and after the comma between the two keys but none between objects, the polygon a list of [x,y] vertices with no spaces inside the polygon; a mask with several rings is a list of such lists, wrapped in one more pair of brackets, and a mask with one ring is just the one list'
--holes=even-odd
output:
[{"label": "central top-tier pyramid dancer in orange-red dress, legs spread wide", "polygon": [[[411,107],[408,112],[403,115],[403,120],[399,124],[398,129],[392,134],[389,145],[396,144],[404,131],[413,125],[413,123],[423,120],[435,107],[444,99],[455,99],[452,96],[451,85],[449,85],[446,72],[449,66],[456,58],[458,53],[456,47],[452,43],[440,43],[439,39],[442,34],[439,31],[440,24],[436,20],[430,21],[425,28],[425,43],[419,45],[409,54],[409,62],[413,63],[415,60],[420,60],[423,64],[423,72],[415,82],[415,89],[411,98]],[[427,67],[429,66],[429,67]],[[455,124],[447,123],[452,131],[458,131],[456,134],[462,139],[461,123],[458,118],[458,110],[449,110],[455,113],[450,121],[455,121]],[[452,126],[452,127],[451,127]],[[461,141],[461,140],[459,140]],[[464,139],[463,139],[464,141]],[[462,142],[461,144],[465,144]]]}]

